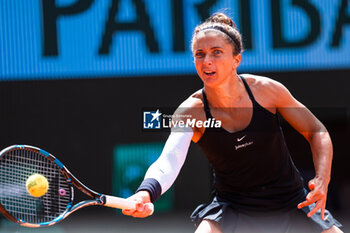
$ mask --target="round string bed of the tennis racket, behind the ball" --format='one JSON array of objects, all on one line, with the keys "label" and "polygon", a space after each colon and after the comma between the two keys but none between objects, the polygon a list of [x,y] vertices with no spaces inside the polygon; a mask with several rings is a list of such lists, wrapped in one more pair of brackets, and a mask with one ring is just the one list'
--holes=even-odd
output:
[{"label": "round string bed of the tennis racket, behind the ball", "polygon": [[[34,173],[45,176],[49,189],[42,197],[30,195],[26,180]],[[59,191],[64,190],[65,195]],[[12,216],[25,222],[50,222],[66,211],[72,197],[58,166],[40,153],[15,149],[0,158],[0,201]]]}]

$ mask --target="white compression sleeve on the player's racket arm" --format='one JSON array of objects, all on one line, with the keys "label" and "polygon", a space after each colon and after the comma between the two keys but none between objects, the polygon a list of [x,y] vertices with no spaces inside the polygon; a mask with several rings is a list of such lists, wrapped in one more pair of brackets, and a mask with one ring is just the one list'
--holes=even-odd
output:
[{"label": "white compression sleeve on the player's racket arm", "polygon": [[192,129],[189,130],[189,132],[172,132],[162,154],[146,172],[145,179],[153,178],[159,182],[162,188],[161,194],[171,187],[185,162],[193,136]]}]

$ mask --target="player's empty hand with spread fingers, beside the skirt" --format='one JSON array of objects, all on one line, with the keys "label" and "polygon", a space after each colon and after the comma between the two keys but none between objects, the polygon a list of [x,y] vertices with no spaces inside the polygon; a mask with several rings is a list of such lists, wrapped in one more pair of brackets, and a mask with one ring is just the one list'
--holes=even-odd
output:
[{"label": "player's empty hand with spread fingers, beside the skirt", "polygon": [[328,183],[329,180],[320,177],[315,177],[314,179],[310,180],[310,192],[306,196],[306,201],[299,203],[298,209],[315,203],[315,207],[307,214],[307,216],[311,217],[319,209],[321,209],[321,218],[322,220],[325,220],[324,213],[326,210]]}]

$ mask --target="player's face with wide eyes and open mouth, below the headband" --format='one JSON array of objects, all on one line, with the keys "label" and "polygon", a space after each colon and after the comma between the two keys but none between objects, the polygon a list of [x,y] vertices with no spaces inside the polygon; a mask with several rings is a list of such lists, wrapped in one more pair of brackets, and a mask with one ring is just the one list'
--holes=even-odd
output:
[{"label": "player's face with wide eyes and open mouth, below the headband", "polygon": [[221,32],[199,32],[192,49],[197,73],[205,85],[220,85],[236,74],[241,56],[233,55],[233,46]]}]

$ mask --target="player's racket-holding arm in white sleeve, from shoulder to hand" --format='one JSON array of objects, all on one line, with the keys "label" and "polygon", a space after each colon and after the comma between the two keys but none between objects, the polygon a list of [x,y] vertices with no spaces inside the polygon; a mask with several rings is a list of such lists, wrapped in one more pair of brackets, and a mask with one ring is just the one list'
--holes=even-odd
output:
[{"label": "player's racket-holding arm in white sleeve, from shoulder to hand", "polygon": [[[202,118],[198,111],[202,108],[201,101],[191,96],[177,108],[173,121]],[[139,203],[136,210],[123,210],[123,214],[139,218],[151,215],[151,210],[144,204],[155,202],[172,186],[185,162],[191,140],[195,140],[197,134],[198,129],[194,127],[171,129],[161,155],[148,168],[136,193],[129,197]]]}]

